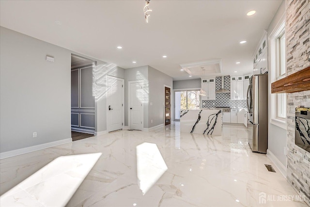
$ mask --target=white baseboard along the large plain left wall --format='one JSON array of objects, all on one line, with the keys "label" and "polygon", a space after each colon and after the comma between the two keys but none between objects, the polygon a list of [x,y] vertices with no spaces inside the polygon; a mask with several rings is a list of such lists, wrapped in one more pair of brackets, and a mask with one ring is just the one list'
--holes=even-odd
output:
[{"label": "white baseboard along the large plain left wall", "polygon": [[58,140],[55,142],[43,143],[43,144],[29,146],[29,147],[25,147],[25,148],[21,148],[21,149],[15,149],[15,150],[11,150],[8,152],[1,152],[0,153],[0,159],[10,158],[10,157],[14,157],[16,155],[22,155],[22,154],[26,154],[29,152],[34,152],[37,150],[46,149],[49,147],[53,147],[53,146],[57,146],[60,144],[65,144],[65,143],[71,143],[71,142],[72,142],[72,138],[68,138],[68,139],[64,139],[64,140]]}]

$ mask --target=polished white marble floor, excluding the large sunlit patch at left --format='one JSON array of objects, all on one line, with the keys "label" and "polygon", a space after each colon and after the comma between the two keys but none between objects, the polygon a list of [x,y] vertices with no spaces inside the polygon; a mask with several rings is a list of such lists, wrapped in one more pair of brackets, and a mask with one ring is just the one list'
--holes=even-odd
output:
[{"label": "polished white marble floor, excluding the large sunlit patch at left", "polygon": [[[307,206],[266,155],[251,152],[246,127],[223,126],[222,136],[210,136],[181,133],[179,122],[150,132],[116,131],[1,159],[0,194],[3,197],[60,156],[98,152],[102,155],[66,206]],[[268,172],[264,164],[273,165],[277,173]],[[58,194],[65,191],[56,184],[51,188]]]}]

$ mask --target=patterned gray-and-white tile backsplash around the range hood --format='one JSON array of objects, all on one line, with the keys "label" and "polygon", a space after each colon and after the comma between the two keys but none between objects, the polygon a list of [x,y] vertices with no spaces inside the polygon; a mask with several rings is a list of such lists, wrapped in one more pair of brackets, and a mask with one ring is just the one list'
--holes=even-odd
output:
[{"label": "patterned gray-and-white tile backsplash around the range hood", "polygon": [[[221,89],[221,77],[216,77],[215,90]],[[230,76],[224,77],[224,88],[231,90]],[[212,107],[231,107],[231,108],[247,108],[247,100],[231,100],[231,94],[216,94],[215,100],[202,100],[202,108]],[[214,104],[213,104],[214,103]]]}]

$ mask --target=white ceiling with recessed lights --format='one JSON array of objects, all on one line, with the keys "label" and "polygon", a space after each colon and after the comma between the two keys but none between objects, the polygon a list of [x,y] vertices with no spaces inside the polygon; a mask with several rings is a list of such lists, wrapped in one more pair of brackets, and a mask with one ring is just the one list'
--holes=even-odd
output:
[{"label": "white ceiling with recessed lights", "polygon": [[[180,64],[211,59],[222,60],[221,75],[251,72],[254,49],[280,3],[151,0],[146,23],[144,0],[1,0],[0,25],[123,68],[150,65],[186,80],[200,75],[189,78]],[[247,16],[250,10],[256,14]]]}]

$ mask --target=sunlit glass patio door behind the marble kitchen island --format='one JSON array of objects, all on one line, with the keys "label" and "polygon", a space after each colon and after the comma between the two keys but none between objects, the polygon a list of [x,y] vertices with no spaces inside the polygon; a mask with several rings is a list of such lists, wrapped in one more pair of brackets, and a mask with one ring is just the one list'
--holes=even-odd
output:
[{"label": "sunlit glass patio door behind the marble kitchen island", "polygon": [[180,119],[180,111],[200,109],[200,90],[176,91],[174,93],[174,119]]}]

